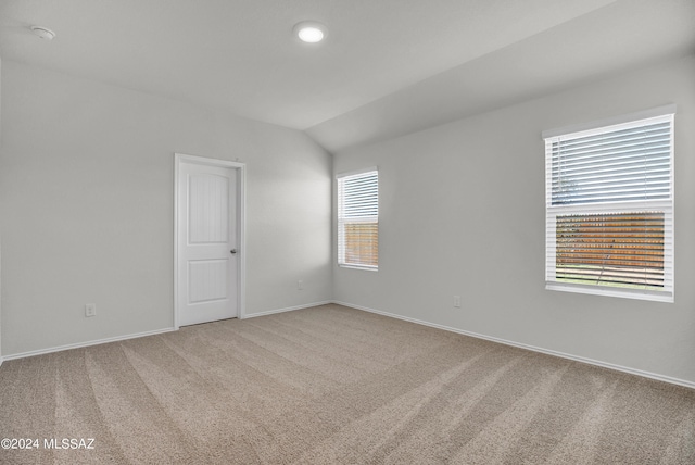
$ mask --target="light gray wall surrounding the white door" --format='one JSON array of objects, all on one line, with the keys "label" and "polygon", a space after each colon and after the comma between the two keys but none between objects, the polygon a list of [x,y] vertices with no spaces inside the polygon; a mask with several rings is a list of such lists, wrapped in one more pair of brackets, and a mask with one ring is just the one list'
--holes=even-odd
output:
[{"label": "light gray wall surrounding the white door", "polygon": [[173,326],[174,152],[247,163],[247,314],[331,298],[332,161],[304,134],[10,61],[1,90],[5,356]]}]

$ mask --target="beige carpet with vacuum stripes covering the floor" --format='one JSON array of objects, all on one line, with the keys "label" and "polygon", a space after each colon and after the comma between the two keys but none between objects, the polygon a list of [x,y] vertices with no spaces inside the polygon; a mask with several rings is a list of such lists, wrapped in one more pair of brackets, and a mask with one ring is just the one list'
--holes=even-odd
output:
[{"label": "beige carpet with vacuum stripes covering the floor", "polygon": [[39,440],[2,464],[695,464],[695,391],[325,305],[5,362],[0,437]]}]

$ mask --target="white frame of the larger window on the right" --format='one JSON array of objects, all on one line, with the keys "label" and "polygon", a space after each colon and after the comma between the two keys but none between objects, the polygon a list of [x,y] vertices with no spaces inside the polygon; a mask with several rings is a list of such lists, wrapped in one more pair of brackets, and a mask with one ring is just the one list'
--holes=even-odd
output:
[{"label": "white frame of the larger window on the right", "polygon": [[[543,131],[545,141],[545,288],[566,292],[609,296],[628,299],[640,299],[659,302],[673,302],[674,299],[674,115],[675,105],[665,105],[643,112],[631,113],[609,120],[603,120],[583,125],[574,125]],[[670,153],[669,153],[669,196],[661,200],[622,200],[622,201],[587,201],[576,204],[553,205],[553,151],[552,143],[558,137],[577,138],[592,134],[614,133],[622,128],[634,127],[645,121],[668,121],[670,123]],[[630,289],[614,287],[605,284],[577,284],[556,280],[556,218],[559,215],[572,214],[619,214],[646,211],[664,212],[664,290]]]}]

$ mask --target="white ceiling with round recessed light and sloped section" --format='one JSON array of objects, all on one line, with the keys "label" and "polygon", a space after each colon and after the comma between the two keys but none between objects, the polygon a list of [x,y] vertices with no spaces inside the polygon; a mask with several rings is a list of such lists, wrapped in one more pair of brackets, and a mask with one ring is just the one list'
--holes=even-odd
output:
[{"label": "white ceiling with round recessed light and sloped section", "polygon": [[[327,39],[294,39],[303,20]],[[3,60],[306,130],[331,151],[694,50],[695,0],[0,2]]]}]

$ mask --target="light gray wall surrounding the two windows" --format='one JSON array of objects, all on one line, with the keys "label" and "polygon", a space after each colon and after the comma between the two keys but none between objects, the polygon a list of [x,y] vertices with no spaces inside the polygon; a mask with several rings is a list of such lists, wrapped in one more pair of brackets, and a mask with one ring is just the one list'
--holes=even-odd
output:
[{"label": "light gray wall surrounding the two windows", "polygon": [[[336,154],[379,166],[379,272],[333,297],[515,343],[695,382],[695,58]],[[678,104],[675,303],[544,290],[541,131]],[[453,296],[463,309],[453,307]]]}]

